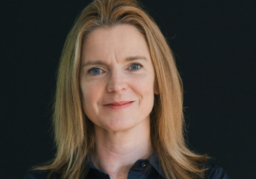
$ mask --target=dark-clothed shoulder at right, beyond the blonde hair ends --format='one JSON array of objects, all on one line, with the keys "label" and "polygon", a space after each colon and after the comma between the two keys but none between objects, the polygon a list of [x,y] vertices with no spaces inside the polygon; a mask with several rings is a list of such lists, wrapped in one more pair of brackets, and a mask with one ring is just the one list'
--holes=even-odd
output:
[{"label": "dark-clothed shoulder at right, beyond the blonde hair ends", "polygon": [[228,179],[227,173],[222,167],[215,164],[206,164],[206,179]]}]

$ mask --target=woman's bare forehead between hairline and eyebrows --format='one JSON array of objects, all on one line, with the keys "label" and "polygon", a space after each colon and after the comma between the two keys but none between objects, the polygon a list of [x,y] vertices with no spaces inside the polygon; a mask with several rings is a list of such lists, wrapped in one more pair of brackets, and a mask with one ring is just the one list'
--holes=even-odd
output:
[{"label": "woman's bare forehead between hairline and eyebrows", "polygon": [[132,25],[98,28],[91,32],[82,44],[82,60],[126,58],[136,55],[151,59],[144,36]]}]

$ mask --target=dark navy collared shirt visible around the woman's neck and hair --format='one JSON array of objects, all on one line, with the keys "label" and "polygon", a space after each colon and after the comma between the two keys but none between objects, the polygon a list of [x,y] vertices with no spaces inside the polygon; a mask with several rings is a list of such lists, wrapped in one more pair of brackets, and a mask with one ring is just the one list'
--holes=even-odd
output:
[{"label": "dark navy collared shirt visible around the woman's neck and hair", "polygon": [[[208,170],[206,171],[206,179],[228,179],[226,172],[223,168],[214,164],[205,165]],[[29,173],[24,179],[46,179],[48,172],[34,172]],[[164,173],[159,167],[159,162],[156,155],[150,156],[145,160],[138,160],[130,169],[127,179],[165,179]],[[51,179],[60,179],[60,176],[55,174]],[[92,162],[90,162],[90,169],[83,179],[110,179],[110,176],[103,171],[97,169]]]}]

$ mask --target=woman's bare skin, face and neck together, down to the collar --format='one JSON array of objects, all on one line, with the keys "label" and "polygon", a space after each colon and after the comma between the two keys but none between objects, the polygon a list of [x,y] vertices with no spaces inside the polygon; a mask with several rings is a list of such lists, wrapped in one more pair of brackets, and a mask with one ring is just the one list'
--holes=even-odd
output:
[{"label": "woman's bare skin, face and neck together, down to the collar", "polygon": [[132,25],[94,30],[82,45],[83,108],[95,128],[94,165],[127,178],[138,159],[152,154],[150,113],[155,73],[143,35]]}]

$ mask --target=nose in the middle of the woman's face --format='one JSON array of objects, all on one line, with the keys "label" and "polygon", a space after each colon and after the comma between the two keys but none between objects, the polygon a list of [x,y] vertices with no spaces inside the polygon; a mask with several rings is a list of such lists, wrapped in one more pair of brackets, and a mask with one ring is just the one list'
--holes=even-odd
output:
[{"label": "nose in the middle of the woman's face", "polygon": [[111,74],[106,86],[106,90],[108,92],[120,93],[122,90],[126,89],[127,86],[125,76],[122,74],[122,72],[115,72]]}]

